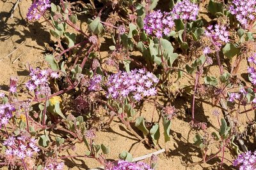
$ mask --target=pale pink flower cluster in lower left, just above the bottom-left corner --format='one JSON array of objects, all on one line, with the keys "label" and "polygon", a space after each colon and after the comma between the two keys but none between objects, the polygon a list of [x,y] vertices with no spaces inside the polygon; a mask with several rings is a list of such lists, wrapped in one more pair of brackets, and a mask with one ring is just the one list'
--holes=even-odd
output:
[{"label": "pale pink flower cluster in lower left, just above the bottom-left corner", "polygon": [[5,155],[7,157],[16,157],[17,159],[32,157],[40,151],[36,146],[36,140],[27,136],[10,136],[4,141],[3,145],[7,148]]}]

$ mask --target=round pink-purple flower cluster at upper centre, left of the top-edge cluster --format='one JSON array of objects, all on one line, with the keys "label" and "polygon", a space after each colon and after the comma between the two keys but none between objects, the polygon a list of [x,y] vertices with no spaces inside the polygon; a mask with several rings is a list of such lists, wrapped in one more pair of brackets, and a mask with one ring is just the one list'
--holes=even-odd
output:
[{"label": "round pink-purple flower cluster at upper centre, left of the top-edge cluster", "polygon": [[161,38],[170,34],[175,23],[170,13],[162,13],[160,10],[149,13],[144,19],[144,30],[147,34],[156,35]]}]

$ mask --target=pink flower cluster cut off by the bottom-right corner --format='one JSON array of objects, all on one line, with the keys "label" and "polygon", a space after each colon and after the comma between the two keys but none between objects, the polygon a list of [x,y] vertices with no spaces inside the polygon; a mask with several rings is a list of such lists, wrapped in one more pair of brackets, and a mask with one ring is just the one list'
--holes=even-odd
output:
[{"label": "pink flower cluster cut off by the bottom-right corner", "polygon": [[256,169],[256,152],[245,152],[238,155],[233,162],[234,166],[239,167],[239,170],[255,170]]}]

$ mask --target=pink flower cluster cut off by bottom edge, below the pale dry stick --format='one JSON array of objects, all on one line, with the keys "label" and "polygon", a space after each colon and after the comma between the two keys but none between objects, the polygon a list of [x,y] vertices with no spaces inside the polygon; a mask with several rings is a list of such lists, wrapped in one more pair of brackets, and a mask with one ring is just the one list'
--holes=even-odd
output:
[{"label": "pink flower cluster cut off by bottom edge, below the pale dry stick", "polygon": [[127,162],[125,160],[118,160],[116,166],[114,166],[111,170],[153,170],[150,168],[148,164],[144,162]]}]

